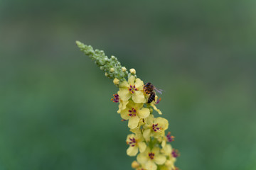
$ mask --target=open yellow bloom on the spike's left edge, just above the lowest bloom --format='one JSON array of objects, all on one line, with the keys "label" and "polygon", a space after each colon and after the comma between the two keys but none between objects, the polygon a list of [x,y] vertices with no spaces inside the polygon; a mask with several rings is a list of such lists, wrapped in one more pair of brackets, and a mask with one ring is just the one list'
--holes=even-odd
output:
[{"label": "open yellow bloom on the spike's left edge, just above the lowest bloom", "polygon": [[146,149],[146,143],[144,142],[141,132],[137,132],[136,135],[127,135],[127,145],[129,145],[129,148],[127,149],[127,154],[129,156],[135,156],[138,153],[138,149],[139,152],[144,152]]}]

